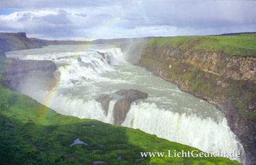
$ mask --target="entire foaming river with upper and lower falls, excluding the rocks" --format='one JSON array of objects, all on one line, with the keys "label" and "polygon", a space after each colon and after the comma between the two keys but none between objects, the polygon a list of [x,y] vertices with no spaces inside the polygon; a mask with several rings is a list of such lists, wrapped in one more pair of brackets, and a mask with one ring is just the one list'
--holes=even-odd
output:
[{"label": "entire foaming river with upper and lower falls, excluding the rocks", "polygon": [[19,92],[58,113],[113,124],[116,101],[110,101],[106,115],[95,99],[120,89],[141,90],[149,94],[148,99],[132,103],[122,126],[139,128],[203,151],[240,151],[242,157],[234,159],[244,162],[244,149],[227,126],[223,113],[144,68],[126,62],[120,48],[109,45],[47,46],[8,52],[7,56],[56,63],[56,75],[60,77],[56,88],[41,91],[27,80]]}]

